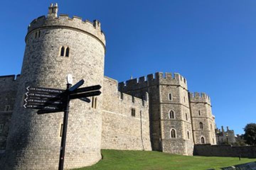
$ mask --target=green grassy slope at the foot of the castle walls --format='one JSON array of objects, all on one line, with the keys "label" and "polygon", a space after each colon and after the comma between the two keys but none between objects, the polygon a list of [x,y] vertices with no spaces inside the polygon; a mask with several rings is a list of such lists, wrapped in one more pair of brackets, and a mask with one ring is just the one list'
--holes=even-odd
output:
[{"label": "green grassy slope at the foot of the castle walls", "polygon": [[97,164],[77,170],[205,170],[256,161],[230,157],[202,157],[167,154],[156,151],[102,150]]}]

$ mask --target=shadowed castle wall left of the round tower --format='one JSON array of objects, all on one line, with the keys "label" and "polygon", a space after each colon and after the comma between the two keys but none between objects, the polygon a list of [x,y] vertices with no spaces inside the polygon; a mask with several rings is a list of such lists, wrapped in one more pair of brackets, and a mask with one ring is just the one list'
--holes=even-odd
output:
[{"label": "shadowed castle wall left of the round tower", "polygon": [[17,94],[18,78],[0,76],[0,150],[5,150],[12,112]]}]

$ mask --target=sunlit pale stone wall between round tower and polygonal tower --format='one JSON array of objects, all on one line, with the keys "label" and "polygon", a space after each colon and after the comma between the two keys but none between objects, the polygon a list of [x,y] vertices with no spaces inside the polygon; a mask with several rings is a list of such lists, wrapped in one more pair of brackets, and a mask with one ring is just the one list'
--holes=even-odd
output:
[{"label": "sunlit pale stone wall between round tower and polygonal tower", "polygon": [[[102,106],[102,149],[151,150],[147,96],[140,98],[117,91],[117,81],[105,77]],[[144,105],[144,106],[143,106]],[[131,115],[135,109],[135,117]]]}]

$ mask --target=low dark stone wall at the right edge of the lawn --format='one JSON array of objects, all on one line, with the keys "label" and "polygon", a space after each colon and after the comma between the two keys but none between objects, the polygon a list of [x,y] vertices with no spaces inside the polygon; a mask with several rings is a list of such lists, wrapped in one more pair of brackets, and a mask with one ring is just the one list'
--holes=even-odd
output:
[{"label": "low dark stone wall at the right edge of the lawn", "polygon": [[194,145],[194,155],[214,157],[256,158],[256,146]]}]

